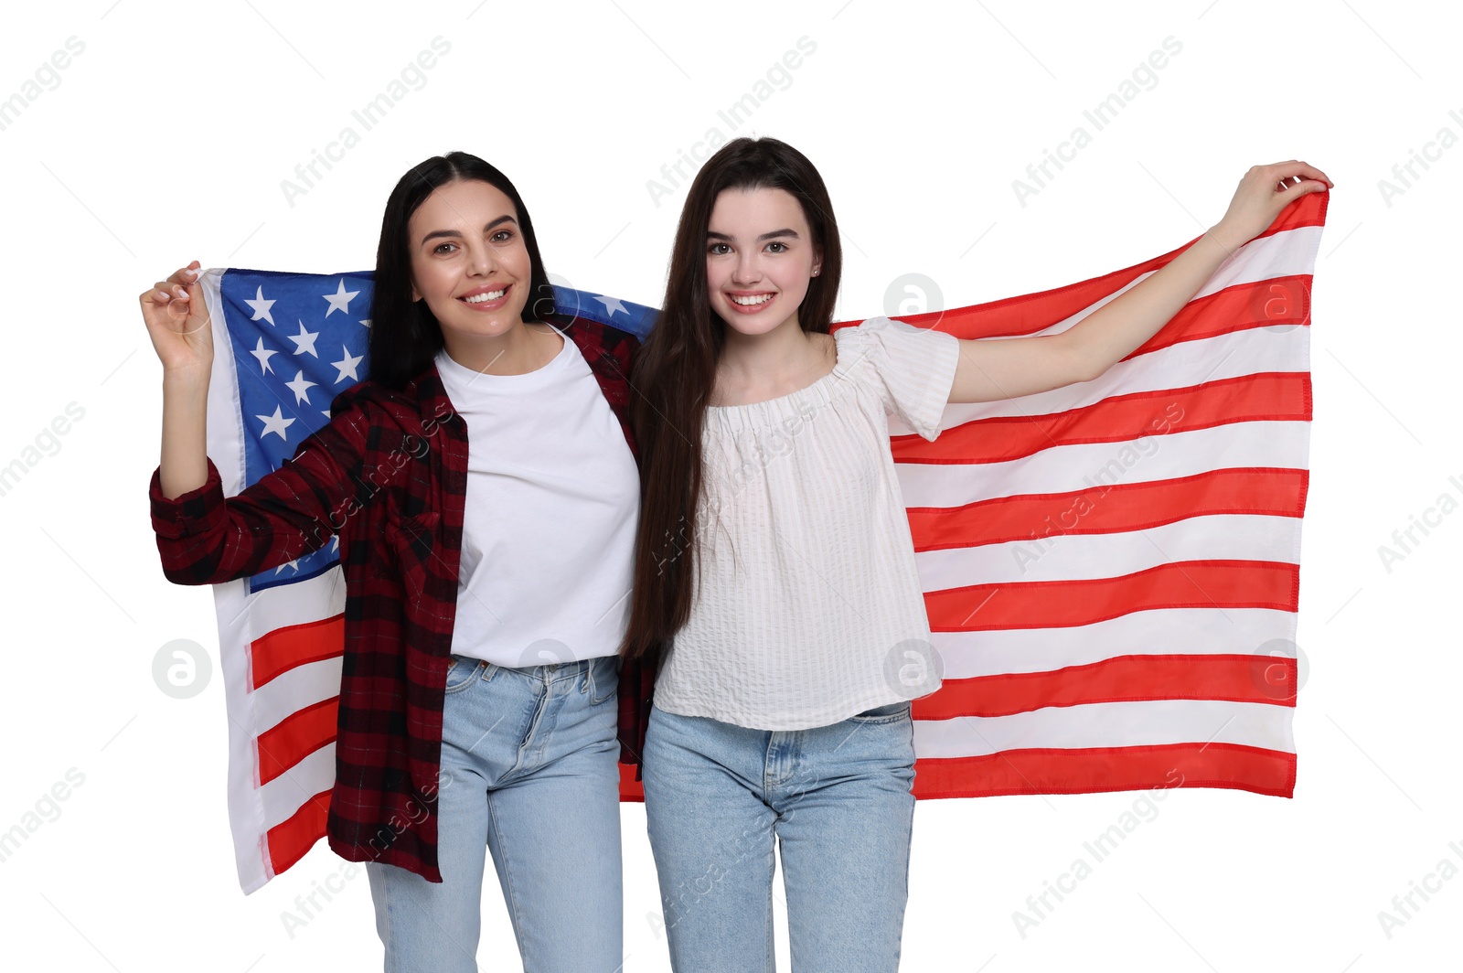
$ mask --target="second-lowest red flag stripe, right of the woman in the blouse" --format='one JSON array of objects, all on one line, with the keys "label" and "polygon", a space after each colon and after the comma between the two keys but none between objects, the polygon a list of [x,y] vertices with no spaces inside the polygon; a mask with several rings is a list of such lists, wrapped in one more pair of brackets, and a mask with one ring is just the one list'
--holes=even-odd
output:
[{"label": "second-lowest red flag stripe, right of the woman in the blouse", "polygon": [[947,679],[914,701],[916,720],[1001,717],[1042,707],[1143,699],[1225,699],[1295,705],[1293,658],[1283,655],[1118,655],[1052,672]]}]

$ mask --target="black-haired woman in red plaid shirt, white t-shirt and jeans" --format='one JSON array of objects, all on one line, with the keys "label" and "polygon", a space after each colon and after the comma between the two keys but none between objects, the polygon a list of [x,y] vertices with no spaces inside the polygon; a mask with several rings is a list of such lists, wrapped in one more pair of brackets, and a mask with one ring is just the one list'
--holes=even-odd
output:
[{"label": "black-haired woman in red plaid shirt, white t-shirt and jeans", "polygon": [[645,710],[616,705],[614,660],[639,502],[635,339],[552,313],[502,173],[430,158],[386,202],[369,380],[225,499],[203,449],[214,350],[198,275],[140,296],[164,366],[149,487],[164,574],[218,584],[339,538],[328,837],[366,862],[386,970],[477,969],[484,844],[525,970],[619,970],[616,717],[633,740]]}]

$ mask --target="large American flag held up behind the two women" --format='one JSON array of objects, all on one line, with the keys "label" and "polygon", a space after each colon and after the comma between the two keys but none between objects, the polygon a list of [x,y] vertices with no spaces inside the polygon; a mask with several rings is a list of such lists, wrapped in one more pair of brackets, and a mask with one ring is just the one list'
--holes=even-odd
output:
[{"label": "large American flag held up behind the two women", "polygon": [[[1327,193],[1241,247],[1102,377],[890,433],[944,688],[914,702],[917,797],[1232,787],[1290,796],[1311,420],[1309,290]],[[906,318],[1055,334],[1184,249]],[[366,375],[372,275],[209,269],[208,455],[233,496]],[[655,310],[554,288],[644,337]],[[834,325],[835,328],[847,326]],[[250,893],[325,834],[345,590],[332,541],[215,587],[228,808]],[[625,775],[622,799],[639,799]]]}]

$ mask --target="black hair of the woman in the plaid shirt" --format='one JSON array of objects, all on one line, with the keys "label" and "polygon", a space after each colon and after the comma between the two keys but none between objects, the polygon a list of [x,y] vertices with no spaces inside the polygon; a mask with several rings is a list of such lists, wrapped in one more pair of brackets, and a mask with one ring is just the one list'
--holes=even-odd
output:
[{"label": "black hair of the woman in the plaid shirt", "polygon": [[427,301],[411,300],[411,241],[407,224],[432,190],[461,180],[478,180],[500,190],[518,211],[518,228],[528,247],[533,272],[524,320],[553,312],[553,287],[538,256],[534,221],[514,183],[475,155],[448,152],[413,165],[386,199],[376,246],[376,284],[370,301],[370,372],[367,377],[399,389],[421,373],[442,351],[442,325]]}]

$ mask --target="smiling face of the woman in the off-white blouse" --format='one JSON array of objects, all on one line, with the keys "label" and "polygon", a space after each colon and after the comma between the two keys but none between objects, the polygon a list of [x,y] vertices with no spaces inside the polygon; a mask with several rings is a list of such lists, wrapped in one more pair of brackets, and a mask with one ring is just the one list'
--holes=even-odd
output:
[{"label": "smiling face of the woman in the off-white blouse", "polygon": [[707,224],[707,290],[714,310],[743,335],[797,325],[819,269],[808,218],[784,189],[726,189]]}]

